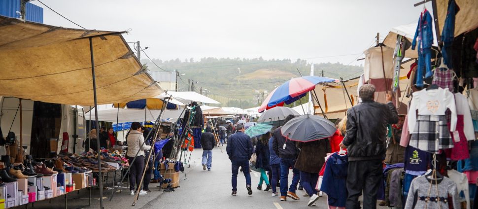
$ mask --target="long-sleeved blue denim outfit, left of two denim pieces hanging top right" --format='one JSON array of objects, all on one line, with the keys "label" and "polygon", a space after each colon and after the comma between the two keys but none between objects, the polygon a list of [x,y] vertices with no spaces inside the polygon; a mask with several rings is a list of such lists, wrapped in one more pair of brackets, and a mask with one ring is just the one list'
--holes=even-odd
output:
[{"label": "long-sleeved blue denim outfit, left of two denim pieces hanging top right", "polygon": [[425,9],[418,19],[415,36],[411,43],[411,49],[415,50],[418,39],[418,68],[416,71],[416,86],[423,86],[423,70],[426,69],[425,77],[433,75],[431,67],[431,47],[433,44],[432,16]]}]

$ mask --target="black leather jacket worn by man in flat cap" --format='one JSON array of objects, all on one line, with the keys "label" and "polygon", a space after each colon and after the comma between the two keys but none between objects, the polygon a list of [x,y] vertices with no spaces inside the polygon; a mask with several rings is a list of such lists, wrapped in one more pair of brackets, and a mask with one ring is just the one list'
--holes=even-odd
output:
[{"label": "black leather jacket worn by man in flat cap", "polygon": [[349,161],[377,160],[385,156],[388,124],[398,123],[395,106],[365,100],[347,110],[347,132],[342,144],[347,146]]}]

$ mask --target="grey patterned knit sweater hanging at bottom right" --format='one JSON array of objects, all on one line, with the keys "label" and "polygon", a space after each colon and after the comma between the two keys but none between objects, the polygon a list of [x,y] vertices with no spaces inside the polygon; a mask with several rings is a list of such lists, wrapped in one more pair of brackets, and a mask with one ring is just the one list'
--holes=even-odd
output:
[{"label": "grey patterned knit sweater hanging at bottom right", "polygon": [[430,188],[427,177],[418,176],[411,181],[405,209],[449,209],[448,196],[452,198],[453,208],[459,209],[458,191],[452,180],[443,177],[438,184],[433,183]]}]

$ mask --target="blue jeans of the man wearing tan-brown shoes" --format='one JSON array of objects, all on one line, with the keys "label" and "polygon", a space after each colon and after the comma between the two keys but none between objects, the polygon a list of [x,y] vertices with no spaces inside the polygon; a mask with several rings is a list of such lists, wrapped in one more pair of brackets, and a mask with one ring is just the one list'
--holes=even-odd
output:
[{"label": "blue jeans of the man wearing tan-brown shoes", "polygon": [[292,167],[292,183],[289,187],[289,192],[295,193],[297,190],[297,184],[301,178],[299,170],[294,168],[296,164],[295,159],[282,159],[280,158],[280,196],[287,196],[287,185],[289,184],[289,168]]}]

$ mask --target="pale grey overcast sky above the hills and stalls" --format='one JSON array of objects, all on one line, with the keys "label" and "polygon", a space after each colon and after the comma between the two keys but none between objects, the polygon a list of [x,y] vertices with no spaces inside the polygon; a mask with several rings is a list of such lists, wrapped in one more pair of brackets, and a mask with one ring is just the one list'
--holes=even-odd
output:
[{"label": "pale grey overcast sky above the hills and stalls", "polygon": [[[417,21],[420,0],[42,0],[87,29],[131,32],[151,58],[297,59],[348,64],[395,26]],[[44,23],[78,28],[44,8]],[[427,3],[431,10],[431,3]],[[353,62],[360,65],[363,61]]]}]

